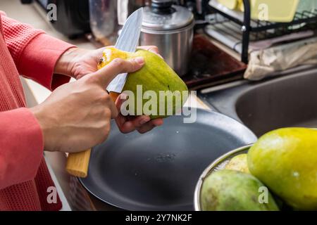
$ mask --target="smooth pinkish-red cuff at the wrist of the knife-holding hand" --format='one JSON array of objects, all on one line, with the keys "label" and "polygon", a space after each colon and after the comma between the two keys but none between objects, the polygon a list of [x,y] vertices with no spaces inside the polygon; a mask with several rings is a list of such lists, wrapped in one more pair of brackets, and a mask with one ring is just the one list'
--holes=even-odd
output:
[{"label": "smooth pinkish-red cuff at the wrist of the knife-holding hand", "polygon": [[0,189],[35,178],[43,158],[42,129],[27,108],[0,113]]}]

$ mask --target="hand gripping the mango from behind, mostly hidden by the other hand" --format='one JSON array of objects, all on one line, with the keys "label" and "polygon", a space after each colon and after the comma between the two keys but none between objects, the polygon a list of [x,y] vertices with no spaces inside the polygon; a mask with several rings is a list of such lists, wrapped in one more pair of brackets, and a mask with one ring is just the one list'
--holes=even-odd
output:
[{"label": "hand gripping the mango from behind, mostly hidden by the other hand", "polygon": [[[156,46],[139,46],[138,49],[145,49],[159,55],[159,49]],[[102,57],[103,51],[104,48],[97,50],[77,48],[69,49],[56,63],[55,72],[74,77],[75,79],[80,79],[87,74],[97,71],[97,64],[99,59]],[[106,89],[106,86],[104,88]],[[116,103],[118,110],[120,110],[120,105],[122,104],[122,101],[119,99],[120,98],[118,98]],[[149,116],[145,115],[138,117],[123,117],[123,115],[119,113],[116,118],[116,123],[120,131],[123,133],[128,133],[134,130],[137,130],[140,133],[145,133],[156,126],[163,124],[163,120],[150,120]]]}]

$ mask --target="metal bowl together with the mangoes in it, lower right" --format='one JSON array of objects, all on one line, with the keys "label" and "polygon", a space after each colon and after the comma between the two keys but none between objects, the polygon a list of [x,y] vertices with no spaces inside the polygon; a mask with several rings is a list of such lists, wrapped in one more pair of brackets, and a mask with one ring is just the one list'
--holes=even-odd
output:
[{"label": "metal bowl together with the mangoes in it, lower right", "polygon": [[317,210],[317,130],[276,129],[213,161],[199,177],[197,211]]}]

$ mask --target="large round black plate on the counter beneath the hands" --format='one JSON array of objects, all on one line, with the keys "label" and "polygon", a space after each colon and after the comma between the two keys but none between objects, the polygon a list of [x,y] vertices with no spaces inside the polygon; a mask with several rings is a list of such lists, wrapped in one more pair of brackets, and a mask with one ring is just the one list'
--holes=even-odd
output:
[{"label": "large round black plate on the counter beneath the hands", "polygon": [[230,117],[197,110],[197,122],[164,120],[147,134],[121,134],[113,124],[108,140],[92,150],[82,185],[104,203],[124,210],[194,210],[201,172],[229,150],[256,141]]}]

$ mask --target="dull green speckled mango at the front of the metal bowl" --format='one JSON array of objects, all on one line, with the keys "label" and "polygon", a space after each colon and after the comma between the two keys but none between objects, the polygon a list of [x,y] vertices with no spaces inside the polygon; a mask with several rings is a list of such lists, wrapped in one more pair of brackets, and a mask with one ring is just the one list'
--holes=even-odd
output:
[{"label": "dull green speckled mango at the front of the metal bowl", "polygon": [[211,173],[204,179],[200,198],[204,211],[278,211],[271,193],[259,179],[235,170]]}]

